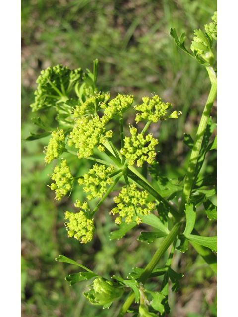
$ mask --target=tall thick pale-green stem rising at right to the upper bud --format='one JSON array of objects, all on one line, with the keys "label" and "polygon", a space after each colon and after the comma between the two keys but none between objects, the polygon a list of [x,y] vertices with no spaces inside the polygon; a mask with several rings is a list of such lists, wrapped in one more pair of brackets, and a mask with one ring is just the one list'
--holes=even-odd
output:
[{"label": "tall thick pale-green stem rising at right to the upper bud", "polygon": [[183,187],[183,193],[182,193],[182,200],[179,208],[179,212],[182,212],[184,210],[185,204],[189,201],[189,196],[191,194],[192,188],[195,183],[195,171],[197,166],[197,161],[199,157],[199,153],[201,150],[202,140],[203,136],[206,130],[207,122],[210,116],[210,112],[213,106],[213,103],[215,101],[215,98],[217,96],[217,78],[216,74],[212,67],[206,67],[209,78],[211,80],[211,90],[207,98],[206,105],[204,107],[201,120],[197,129],[196,138],[193,144],[191,157],[189,160],[188,168],[187,168],[187,175],[185,178],[185,183]]}]

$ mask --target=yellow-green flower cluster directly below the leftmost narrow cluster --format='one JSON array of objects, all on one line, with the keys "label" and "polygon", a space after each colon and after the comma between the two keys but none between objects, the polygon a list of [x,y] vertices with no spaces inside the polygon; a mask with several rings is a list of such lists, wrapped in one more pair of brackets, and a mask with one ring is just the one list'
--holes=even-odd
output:
[{"label": "yellow-green flower cluster directly below the leftmost narrow cluster", "polygon": [[51,190],[55,190],[56,200],[61,200],[72,190],[74,178],[67,165],[66,159],[63,159],[61,167],[57,165],[54,169],[54,173],[48,176],[51,176],[51,179],[55,181],[55,183],[52,183],[49,187]]}]

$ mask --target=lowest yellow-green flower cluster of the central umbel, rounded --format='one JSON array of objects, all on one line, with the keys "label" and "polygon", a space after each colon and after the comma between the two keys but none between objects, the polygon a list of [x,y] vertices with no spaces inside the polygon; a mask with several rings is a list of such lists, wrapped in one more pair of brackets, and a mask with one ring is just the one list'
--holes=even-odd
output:
[{"label": "lowest yellow-green flower cluster of the central umbel, rounded", "polygon": [[64,219],[69,219],[69,222],[65,222],[68,237],[74,236],[81,243],[92,240],[95,231],[93,219],[89,219],[83,211],[77,213],[66,211]]}]

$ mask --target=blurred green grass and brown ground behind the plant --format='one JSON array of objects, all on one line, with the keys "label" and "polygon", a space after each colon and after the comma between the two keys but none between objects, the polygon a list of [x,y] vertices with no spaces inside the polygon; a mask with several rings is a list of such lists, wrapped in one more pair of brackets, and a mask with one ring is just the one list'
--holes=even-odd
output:
[{"label": "blurred green grass and brown ground behind the plant", "polygon": [[[32,113],[29,105],[34,102],[40,71],[57,64],[92,71],[93,60],[98,58],[101,91],[110,91],[112,97],[132,94],[136,103],[156,93],[164,102],[172,103],[174,110],[182,111],[179,119],[166,121],[156,137],[161,169],[170,178],[183,176],[188,159],[183,133],[194,136],[210,82],[205,68],[175,45],[170,28],[176,28],[179,36],[186,33],[189,48],[193,30],[203,29],[211,21],[216,5],[209,0],[22,0],[22,139],[38,132],[31,118],[39,114]],[[56,126],[53,110],[42,115]],[[216,104],[211,115],[216,122]],[[54,200],[47,175],[60,161],[45,166],[43,150],[48,140],[22,141],[22,317],[103,317],[112,316],[112,312],[116,316],[121,303],[106,311],[92,306],[82,295],[90,282],[70,287],[64,277],[78,272],[77,267],[55,258],[62,254],[105,278],[113,274],[126,278],[132,267],[145,267],[160,239],[150,245],[137,241],[142,226],[135,227],[126,238],[109,241],[115,224],[108,214],[107,200],[95,218],[93,241],[82,245],[68,239],[63,214],[73,211],[73,202],[83,196],[79,188],[70,199]],[[79,166],[77,158],[64,157],[74,174],[82,175],[91,166],[84,160]],[[216,153],[207,157],[202,172],[216,172]],[[197,230],[213,235],[207,222],[201,215]],[[216,231],[216,223],[212,229]],[[169,297],[169,316],[217,316],[216,278],[202,258],[189,248],[186,254],[175,253],[173,265],[185,276],[179,292]],[[151,289],[156,288],[158,279],[153,283]]]}]

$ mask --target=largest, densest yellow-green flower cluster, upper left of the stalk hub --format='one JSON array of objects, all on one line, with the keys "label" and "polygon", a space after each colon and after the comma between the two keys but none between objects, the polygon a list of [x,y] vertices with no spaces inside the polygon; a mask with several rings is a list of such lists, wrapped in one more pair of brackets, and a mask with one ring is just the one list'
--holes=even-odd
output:
[{"label": "largest, densest yellow-green flower cluster, upper left of the stalk hub", "polygon": [[[99,118],[93,117],[90,120],[88,117],[76,118],[76,125],[70,133],[68,145],[75,146],[78,150],[78,157],[88,158],[93,155],[93,149],[96,145],[99,151],[104,151],[103,144],[105,143],[105,124],[108,122],[106,116]],[[108,131],[107,131],[108,132]],[[106,132],[106,133],[107,133]],[[110,137],[111,132],[107,133]]]}]

